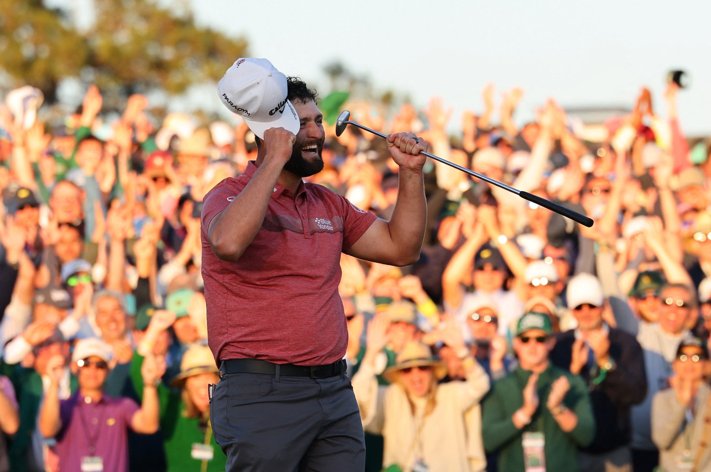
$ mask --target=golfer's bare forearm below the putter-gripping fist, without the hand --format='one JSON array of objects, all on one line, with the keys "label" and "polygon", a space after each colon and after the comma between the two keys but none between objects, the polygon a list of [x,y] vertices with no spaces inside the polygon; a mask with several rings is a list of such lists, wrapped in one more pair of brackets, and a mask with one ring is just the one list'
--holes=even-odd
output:
[{"label": "golfer's bare forearm below the putter-gripping fist, without the hand", "polygon": [[402,265],[417,262],[427,221],[427,200],[424,198],[424,174],[400,168],[400,189],[392,218],[387,226],[392,243],[399,252]]}]

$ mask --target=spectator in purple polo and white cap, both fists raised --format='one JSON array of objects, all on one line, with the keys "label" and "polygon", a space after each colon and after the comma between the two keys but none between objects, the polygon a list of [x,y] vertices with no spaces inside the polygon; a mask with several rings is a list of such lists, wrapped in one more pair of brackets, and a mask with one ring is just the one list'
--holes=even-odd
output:
[{"label": "spectator in purple polo and white cap, both fists raised", "polygon": [[59,381],[65,360],[55,356],[48,362],[50,387],[39,414],[39,429],[46,438],[55,437],[59,472],[128,471],[127,431],[153,434],[159,427],[156,385],[165,365],[146,357],[141,367],[143,401],[109,397],[104,382],[109,374],[112,350],[96,338],[80,340],[74,348],[71,369],[79,389],[60,400]]}]

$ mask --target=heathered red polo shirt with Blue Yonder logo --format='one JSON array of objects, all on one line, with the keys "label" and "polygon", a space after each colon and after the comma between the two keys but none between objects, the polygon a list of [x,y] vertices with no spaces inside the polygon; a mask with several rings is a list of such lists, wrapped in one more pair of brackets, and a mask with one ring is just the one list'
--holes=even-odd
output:
[{"label": "heathered red polo shirt with Blue Yonder logo", "polygon": [[[343,359],[346,317],[338,295],[341,251],[358,241],[375,215],[318,184],[296,196],[277,184],[262,228],[237,262],[210,248],[210,221],[257,171],[225,179],[205,195],[203,280],[208,342],[215,360],[252,358],[324,365]],[[219,362],[218,362],[219,363]]]}]

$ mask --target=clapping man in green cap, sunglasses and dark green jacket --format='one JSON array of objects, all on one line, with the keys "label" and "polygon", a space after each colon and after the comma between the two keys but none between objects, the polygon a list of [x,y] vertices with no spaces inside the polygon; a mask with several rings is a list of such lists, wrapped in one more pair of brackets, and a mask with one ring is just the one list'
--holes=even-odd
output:
[{"label": "clapping man in green cap, sunglasses and dark green jacket", "polygon": [[587,387],[550,364],[554,345],[546,315],[530,312],[518,320],[513,349],[519,365],[483,403],[484,447],[500,452],[499,471],[577,471],[577,448],[593,439]]}]

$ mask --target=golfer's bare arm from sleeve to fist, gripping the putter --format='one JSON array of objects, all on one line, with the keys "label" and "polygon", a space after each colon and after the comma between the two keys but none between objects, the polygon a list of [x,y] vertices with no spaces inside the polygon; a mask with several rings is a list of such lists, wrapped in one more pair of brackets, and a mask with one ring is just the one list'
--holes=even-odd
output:
[{"label": "golfer's bare arm from sleeve to fist, gripping the putter", "polygon": [[419,259],[427,220],[427,200],[424,198],[425,157],[427,142],[411,133],[387,137],[387,150],[400,166],[400,188],[390,221],[377,219],[355,241],[346,253],[365,261],[390,266],[409,266]]}]

